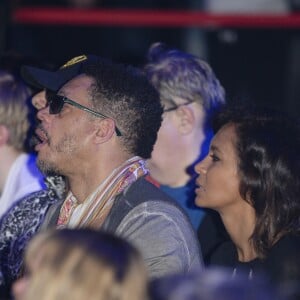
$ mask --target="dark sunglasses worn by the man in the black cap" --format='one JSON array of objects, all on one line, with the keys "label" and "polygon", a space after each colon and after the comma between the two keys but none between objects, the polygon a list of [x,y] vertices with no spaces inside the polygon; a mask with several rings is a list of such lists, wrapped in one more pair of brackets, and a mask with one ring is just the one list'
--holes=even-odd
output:
[{"label": "dark sunglasses worn by the man in the black cap", "polygon": [[[63,109],[64,107],[64,104],[65,103],[68,103],[74,107],[77,107],[81,110],[84,110],[98,118],[103,118],[103,119],[107,119],[109,118],[108,116],[106,115],[103,115],[97,111],[94,111],[86,106],[83,106],[67,97],[64,97],[64,96],[61,96],[61,95],[57,95],[55,92],[52,92],[52,91],[49,91],[47,90],[46,91],[46,99],[47,99],[47,103],[48,103],[48,106],[49,106],[49,113],[51,115],[56,115],[56,114],[59,114],[61,112],[61,110]],[[118,127],[116,126],[116,134],[117,136],[122,136],[122,133],[121,131],[118,129]]]}]

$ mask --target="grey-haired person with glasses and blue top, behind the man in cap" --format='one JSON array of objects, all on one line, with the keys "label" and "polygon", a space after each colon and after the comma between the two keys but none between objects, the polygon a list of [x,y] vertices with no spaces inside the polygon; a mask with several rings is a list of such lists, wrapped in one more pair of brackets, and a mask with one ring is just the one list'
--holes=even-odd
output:
[{"label": "grey-haired person with glasses and blue top, behind the man in cap", "polygon": [[[151,177],[189,216],[208,259],[223,238],[223,225],[213,212],[195,205],[194,165],[208,152],[211,119],[225,105],[225,91],[213,70],[199,57],[162,43],[148,51],[144,70],[159,92],[164,108],[151,158]],[[205,221],[204,221],[205,220]]]}]

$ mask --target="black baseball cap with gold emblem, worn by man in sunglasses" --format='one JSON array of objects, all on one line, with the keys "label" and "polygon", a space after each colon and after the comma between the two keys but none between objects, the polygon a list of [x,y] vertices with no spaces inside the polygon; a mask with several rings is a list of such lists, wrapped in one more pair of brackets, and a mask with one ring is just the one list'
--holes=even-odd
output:
[{"label": "black baseball cap with gold emblem, worn by man in sunglasses", "polygon": [[58,91],[65,83],[82,73],[84,65],[96,62],[100,57],[96,55],[76,56],[57,71],[44,70],[32,66],[23,66],[21,76],[28,84],[39,88]]}]

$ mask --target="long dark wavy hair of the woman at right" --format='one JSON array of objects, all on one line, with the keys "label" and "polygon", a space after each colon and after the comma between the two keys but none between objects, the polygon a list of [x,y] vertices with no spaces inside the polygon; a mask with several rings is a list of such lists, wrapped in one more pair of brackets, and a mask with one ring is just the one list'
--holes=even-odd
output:
[{"label": "long dark wavy hair of the woman at right", "polygon": [[217,131],[232,124],[240,194],[255,209],[251,236],[263,258],[282,236],[300,233],[300,128],[296,120],[271,109],[228,107],[214,122]]}]

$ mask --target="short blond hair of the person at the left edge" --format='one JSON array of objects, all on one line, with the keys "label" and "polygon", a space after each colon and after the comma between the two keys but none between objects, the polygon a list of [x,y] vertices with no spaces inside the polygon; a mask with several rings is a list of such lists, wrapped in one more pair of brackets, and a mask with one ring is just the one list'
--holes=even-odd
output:
[{"label": "short blond hair of the person at the left edge", "polygon": [[29,130],[30,89],[12,74],[0,70],[0,125],[9,130],[8,145],[24,150]]}]

